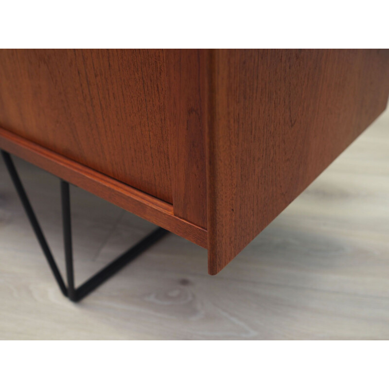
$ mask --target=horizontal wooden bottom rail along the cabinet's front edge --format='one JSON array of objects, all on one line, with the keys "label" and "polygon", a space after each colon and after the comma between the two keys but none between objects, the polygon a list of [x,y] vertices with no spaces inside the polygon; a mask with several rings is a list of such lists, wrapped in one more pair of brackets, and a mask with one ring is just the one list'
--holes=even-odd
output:
[{"label": "horizontal wooden bottom rail along the cabinet's front edge", "polygon": [[198,246],[207,248],[207,230],[177,217],[169,203],[2,128],[0,148]]}]

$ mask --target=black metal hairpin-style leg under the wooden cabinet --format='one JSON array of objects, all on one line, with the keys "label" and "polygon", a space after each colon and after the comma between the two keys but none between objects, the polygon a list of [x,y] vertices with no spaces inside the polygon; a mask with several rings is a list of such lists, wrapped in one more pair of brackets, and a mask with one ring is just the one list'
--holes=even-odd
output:
[{"label": "black metal hairpin-style leg under the wooden cabinet", "polygon": [[162,228],[154,230],[152,233],[147,235],[143,240],[137,243],[134,247],[130,248],[124,252],[120,257],[111,262],[109,265],[104,267],[93,277],[89,278],[88,281],[80,285],[78,288],[74,286],[74,271],[73,271],[73,249],[71,243],[71,208],[70,208],[70,188],[69,183],[61,180],[61,203],[62,203],[62,223],[63,223],[63,236],[64,236],[64,249],[65,249],[65,262],[66,262],[66,274],[68,287],[66,287],[61,273],[57,265],[55,264],[53,254],[47,244],[46,238],[42,232],[42,229],[39,226],[39,223],[36,219],[33,208],[30,204],[30,201],[27,197],[27,194],[23,188],[23,185],[16,171],[15,165],[11,159],[11,156],[1,150],[1,156],[4,159],[5,165],[8,169],[8,172],[11,176],[12,182],[15,185],[16,191],[18,192],[19,198],[23,204],[23,208],[28,216],[28,219],[33,227],[36,238],[39,241],[40,247],[45,254],[48,264],[53,272],[55,280],[57,281],[59,288],[62,293],[67,296],[71,301],[80,301],[86,297],[90,292],[116,274],[121,270],[125,265],[135,259],[140,255],[144,250],[149,248],[163,236],[165,236],[168,231]]}]

